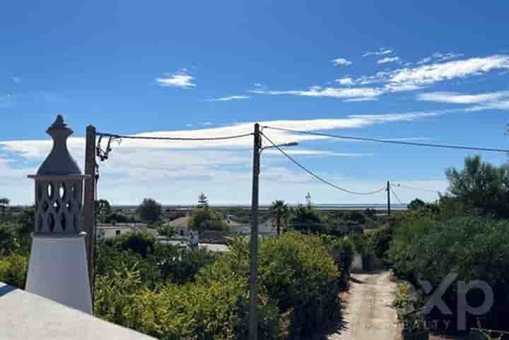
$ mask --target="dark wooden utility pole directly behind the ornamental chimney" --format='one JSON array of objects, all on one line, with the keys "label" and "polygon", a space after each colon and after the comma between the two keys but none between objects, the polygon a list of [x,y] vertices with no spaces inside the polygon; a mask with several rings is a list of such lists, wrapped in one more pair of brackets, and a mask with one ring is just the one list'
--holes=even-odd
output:
[{"label": "dark wooden utility pole directly behind the ornamental chimney", "polygon": [[86,129],[85,146],[85,175],[90,176],[85,181],[83,190],[83,216],[81,229],[86,235],[86,252],[88,263],[88,278],[92,298],[94,296],[94,248],[95,248],[95,127],[88,125]]}]

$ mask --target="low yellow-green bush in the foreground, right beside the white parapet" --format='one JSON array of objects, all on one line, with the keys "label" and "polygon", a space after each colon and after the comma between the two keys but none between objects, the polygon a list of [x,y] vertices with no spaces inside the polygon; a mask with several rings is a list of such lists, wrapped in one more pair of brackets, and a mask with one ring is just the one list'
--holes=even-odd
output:
[{"label": "low yellow-green bush in the foreground, right beside the white parapet", "polygon": [[[248,332],[247,285],[168,284],[156,290],[141,285],[137,271],[115,271],[97,281],[95,315],[163,340],[240,340]],[[259,295],[259,339],[281,337],[278,308]]]}]

